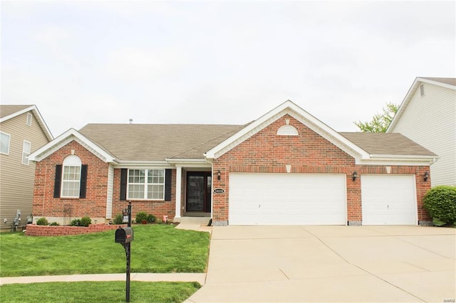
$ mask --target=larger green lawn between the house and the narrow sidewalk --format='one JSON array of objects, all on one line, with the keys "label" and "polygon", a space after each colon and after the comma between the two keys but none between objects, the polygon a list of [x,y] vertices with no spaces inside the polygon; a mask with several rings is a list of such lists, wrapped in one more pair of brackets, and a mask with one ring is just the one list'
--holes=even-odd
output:
[{"label": "larger green lawn between the house and the narrow sidewalk", "polygon": [[[209,233],[174,225],[133,225],[131,272],[204,272]],[[0,234],[0,277],[125,272],[115,230],[61,237]]]}]

